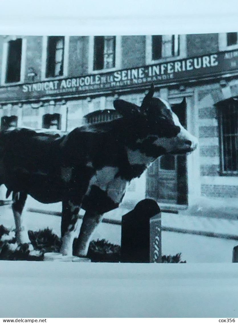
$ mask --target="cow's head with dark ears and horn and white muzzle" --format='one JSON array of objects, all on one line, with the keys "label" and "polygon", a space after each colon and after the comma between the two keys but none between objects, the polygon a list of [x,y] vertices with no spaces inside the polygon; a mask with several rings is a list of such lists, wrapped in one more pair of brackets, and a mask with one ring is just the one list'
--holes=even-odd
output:
[{"label": "cow's head with dark ears and horn and white muzzle", "polygon": [[[118,99],[114,101],[114,108],[124,118],[135,120],[140,132],[139,140],[153,140],[153,144],[161,147],[164,153],[183,154],[195,150],[198,140],[183,128],[170,104],[163,99],[153,98],[153,95],[152,84],[141,107]],[[186,106],[185,99],[181,108],[184,105]]]}]

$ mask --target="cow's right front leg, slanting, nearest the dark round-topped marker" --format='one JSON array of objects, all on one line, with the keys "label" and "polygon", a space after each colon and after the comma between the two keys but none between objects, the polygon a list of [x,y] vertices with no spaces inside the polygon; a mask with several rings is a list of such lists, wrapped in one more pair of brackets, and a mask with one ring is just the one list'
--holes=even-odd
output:
[{"label": "cow's right front leg, slanting, nearest the dark round-topped marker", "polygon": [[86,257],[94,230],[102,221],[102,218],[103,214],[97,214],[93,211],[86,211],[80,228],[80,233],[75,244],[74,255]]}]

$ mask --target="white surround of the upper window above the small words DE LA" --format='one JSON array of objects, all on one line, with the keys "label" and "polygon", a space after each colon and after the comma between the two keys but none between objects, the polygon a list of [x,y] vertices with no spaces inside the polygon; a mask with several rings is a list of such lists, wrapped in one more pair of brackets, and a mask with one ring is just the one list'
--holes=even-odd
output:
[{"label": "white surround of the upper window above the small words DE LA", "polygon": [[[103,35],[103,36],[115,36],[115,35]],[[115,36],[115,67],[103,68],[94,70],[94,37],[89,36],[89,55],[88,55],[88,73],[99,74],[106,72],[113,72],[121,69],[121,36]]]}]

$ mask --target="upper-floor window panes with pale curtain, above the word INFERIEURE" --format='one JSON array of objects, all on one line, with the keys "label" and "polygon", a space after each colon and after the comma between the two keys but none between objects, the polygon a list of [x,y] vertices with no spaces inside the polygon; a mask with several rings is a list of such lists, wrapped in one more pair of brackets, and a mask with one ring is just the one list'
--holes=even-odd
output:
[{"label": "upper-floor window panes with pale curtain, above the word INFERIEURE", "polygon": [[180,55],[179,35],[152,36],[152,60]]}]

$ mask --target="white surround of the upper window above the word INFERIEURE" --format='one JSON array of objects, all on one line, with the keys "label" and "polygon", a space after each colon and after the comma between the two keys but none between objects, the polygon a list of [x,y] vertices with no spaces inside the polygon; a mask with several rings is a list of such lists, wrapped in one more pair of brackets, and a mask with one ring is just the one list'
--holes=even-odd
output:
[{"label": "white surround of the upper window above the word INFERIEURE", "polygon": [[[145,61],[146,65],[150,64],[157,64],[157,63],[162,63],[162,62],[170,62],[174,61],[177,59],[185,58],[187,55],[187,45],[186,45],[186,35],[178,35],[179,36],[179,55],[178,56],[170,56],[170,57],[161,57],[159,59],[152,59],[152,53],[153,53],[153,48],[152,48],[152,36],[156,35],[147,35],[145,38]],[[167,36],[167,35],[161,35]],[[171,35],[172,36],[172,35]],[[171,49],[172,50],[172,49]],[[163,52],[163,46],[162,46],[162,52]]]}]

